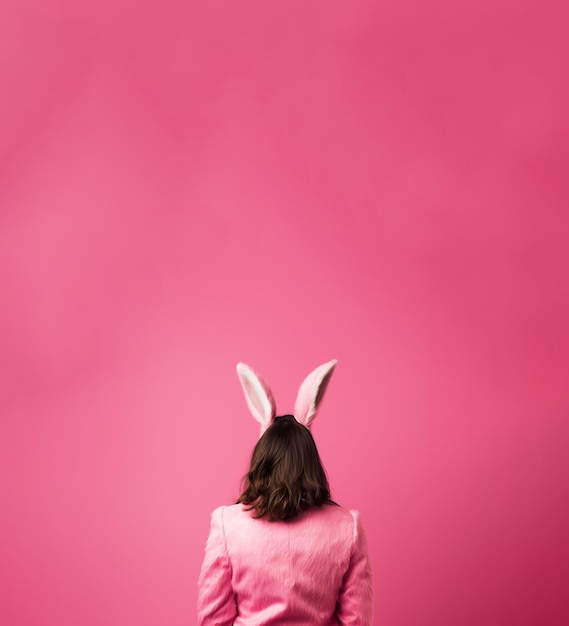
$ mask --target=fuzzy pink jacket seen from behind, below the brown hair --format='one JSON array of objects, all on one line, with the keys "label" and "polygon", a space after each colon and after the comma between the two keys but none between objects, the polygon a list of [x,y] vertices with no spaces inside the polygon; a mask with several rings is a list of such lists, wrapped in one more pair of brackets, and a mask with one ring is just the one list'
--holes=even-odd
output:
[{"label": "fuzzy pink jacket seen from behind, below the brown hair", "polygon": [[372,613],[357,511],[330,504],[274,522],[241,504],[212,513],[198,626],[371,626]]}]

